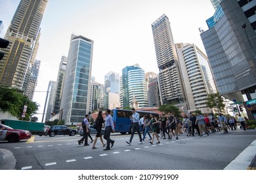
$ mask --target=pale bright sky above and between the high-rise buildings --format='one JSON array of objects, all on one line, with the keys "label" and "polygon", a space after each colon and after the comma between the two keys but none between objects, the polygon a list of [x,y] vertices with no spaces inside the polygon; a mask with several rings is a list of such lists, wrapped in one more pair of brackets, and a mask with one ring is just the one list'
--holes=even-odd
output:
[{"label": "pale bright sky above and between the high-rise buildings", "polygon": [[[19,2],[0,1],[1,38]],[[194,43],[205,53],[198,28],[207,30],[205,20],[214,12],[210,0],[48,0],[36,57],[41,67],[35,91],[43,92],[33,97],[40,105],[39,122],[49,81],[56,81],[61,57],[68,57],[72,34],[94,41],[92,76],[104,84],[104,75],[121,75],[124,67],[135,63],[145,73],[158,73],[151,24],[162,14],[169,18],[175,43]]]}]

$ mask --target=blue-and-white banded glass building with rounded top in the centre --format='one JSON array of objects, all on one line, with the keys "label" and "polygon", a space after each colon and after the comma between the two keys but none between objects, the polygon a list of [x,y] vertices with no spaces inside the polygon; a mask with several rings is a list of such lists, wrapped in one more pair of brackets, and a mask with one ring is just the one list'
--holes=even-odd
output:
[{"label": "blue-and-white banded glass building with rounded top in the centre", "polygon": [[121,107],[131,107],[135,99],[138,107],[148,107],[145,73],[138,64],[122,69],[120,78]]}]

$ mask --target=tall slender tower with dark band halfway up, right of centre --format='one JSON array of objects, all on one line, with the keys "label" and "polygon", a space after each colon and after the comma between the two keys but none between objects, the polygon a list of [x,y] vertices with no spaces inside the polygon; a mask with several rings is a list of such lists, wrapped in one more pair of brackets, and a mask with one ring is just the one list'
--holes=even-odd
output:
[{"label": "tall slender tower with dark band halfway up, right of centre", "polygon": [[159,68],[161,104],[186,101],[169,18],[163,14],[152,24],[156,59]]}]

